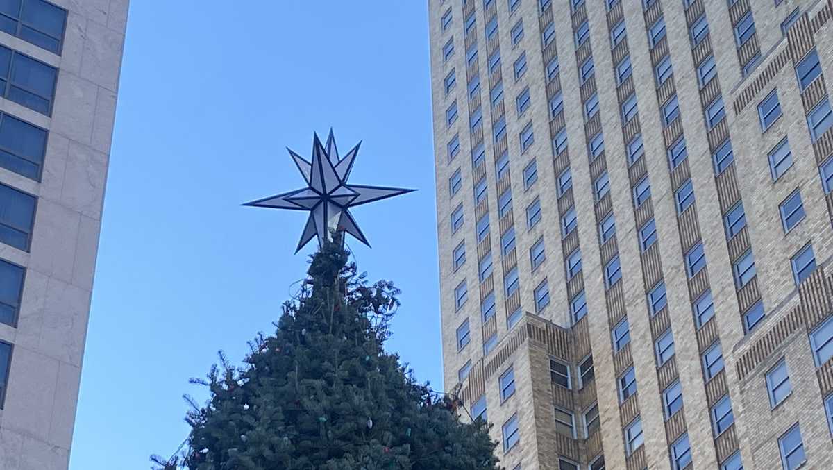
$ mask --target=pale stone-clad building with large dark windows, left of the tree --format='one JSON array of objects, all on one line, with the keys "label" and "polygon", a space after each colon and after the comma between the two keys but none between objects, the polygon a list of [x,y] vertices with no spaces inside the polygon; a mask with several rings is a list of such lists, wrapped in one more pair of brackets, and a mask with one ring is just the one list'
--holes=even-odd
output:
[{"label": "pale stone-clad building with large dark windows, left of the tree", "polygon": [[127,2],[0,2],[3,469],[68,466]]}]

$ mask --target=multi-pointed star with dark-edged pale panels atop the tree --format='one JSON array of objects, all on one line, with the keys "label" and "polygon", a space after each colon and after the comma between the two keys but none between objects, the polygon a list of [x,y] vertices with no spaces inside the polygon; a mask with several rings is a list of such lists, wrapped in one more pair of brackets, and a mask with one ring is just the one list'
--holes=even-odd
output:
[{"label": "multi-pointed star with dark-edged pale panels atop the tree", "polygon": [[411,193],[413,189],[384,188],[382,186],[365,186],[347,184],[347,178],[353,168],[353,163],[359,152],[359,146],[352,148],[344,158],[338,156],[336,139],[332,135],[327,138],[325,148],[317,134],[312,138],[312,162],[307,162],[297,153],[287,148],[298,170],[301,171],[307,188],[297,189],[289,193],[278,194],[271,198],[258,199],[244,206],[258,208],[289,209],[295,211],[309,211],[307,225],[301,234],[295,253],[317,237],[318,243],[329,237],[329,231],[337,230],[350,233],[360,242],[367,243],[362,229],[350,213],[350,208],[372,203],[380,199],[392,198],[400,194]]}]

